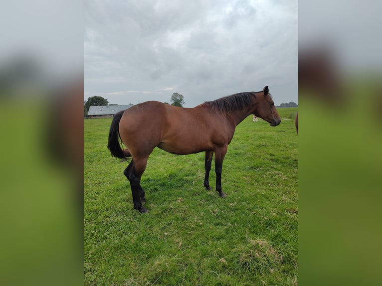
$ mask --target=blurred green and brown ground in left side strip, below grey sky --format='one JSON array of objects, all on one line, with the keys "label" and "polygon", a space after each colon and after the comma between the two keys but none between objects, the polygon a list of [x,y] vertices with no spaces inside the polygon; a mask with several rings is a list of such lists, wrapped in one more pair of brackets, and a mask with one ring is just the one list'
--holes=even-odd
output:
[{"label": "blurred green and brown ground in left side strip, below grey sky", "polygon": [[1,95],[1,285],[82,278],[82,91],[79,104],[76,96]]}]

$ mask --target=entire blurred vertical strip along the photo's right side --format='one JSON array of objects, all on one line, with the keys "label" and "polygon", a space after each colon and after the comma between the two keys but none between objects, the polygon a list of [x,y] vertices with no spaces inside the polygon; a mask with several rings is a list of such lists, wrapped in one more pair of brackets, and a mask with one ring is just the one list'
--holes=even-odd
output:
[{"label": "entire blurred vertical strip along the photo's right side", "polygon": [[381,2],[299,2],[299,285],[379,285]]}]

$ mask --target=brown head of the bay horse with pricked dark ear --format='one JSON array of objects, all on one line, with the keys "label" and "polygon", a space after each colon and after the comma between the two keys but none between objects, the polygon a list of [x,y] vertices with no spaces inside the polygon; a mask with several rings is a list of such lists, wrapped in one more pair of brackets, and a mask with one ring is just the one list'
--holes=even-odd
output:
[{"label": "brown head of the bay horse with pricked dark ear", "polygon": [[281,118],[275,108],[268,86],[264,87],[263,91],[256,93],[253,114],[269,122],[271,126],[280,124]]}]

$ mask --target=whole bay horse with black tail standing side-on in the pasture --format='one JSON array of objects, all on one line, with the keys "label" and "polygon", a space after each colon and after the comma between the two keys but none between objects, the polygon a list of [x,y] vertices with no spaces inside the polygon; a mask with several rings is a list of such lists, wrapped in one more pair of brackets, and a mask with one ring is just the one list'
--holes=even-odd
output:
[{"label": "whole bay horse with black tail standing side-on in the pasture", "polygon": [[[152,114],[155,114],[155,121]],[[226,197],[221,189],[223,159],[236,126],[251,114],[271,126],[280,124],[268,86],[259,92],[237,93],[194,108],[148,101],[115,114],[110,126],[108,149],[112,156],[132,158],[123,173],[130,181],[134,208],[142,213],[148,212],[142,205],[146,197],[141,177],[155,147],[178,155],[204,151],[204,187],[207,190],[211,189],[208,178],[215,153],[216,191],[220,197]],[[126,149],[122,149],[119,138]]]}]

